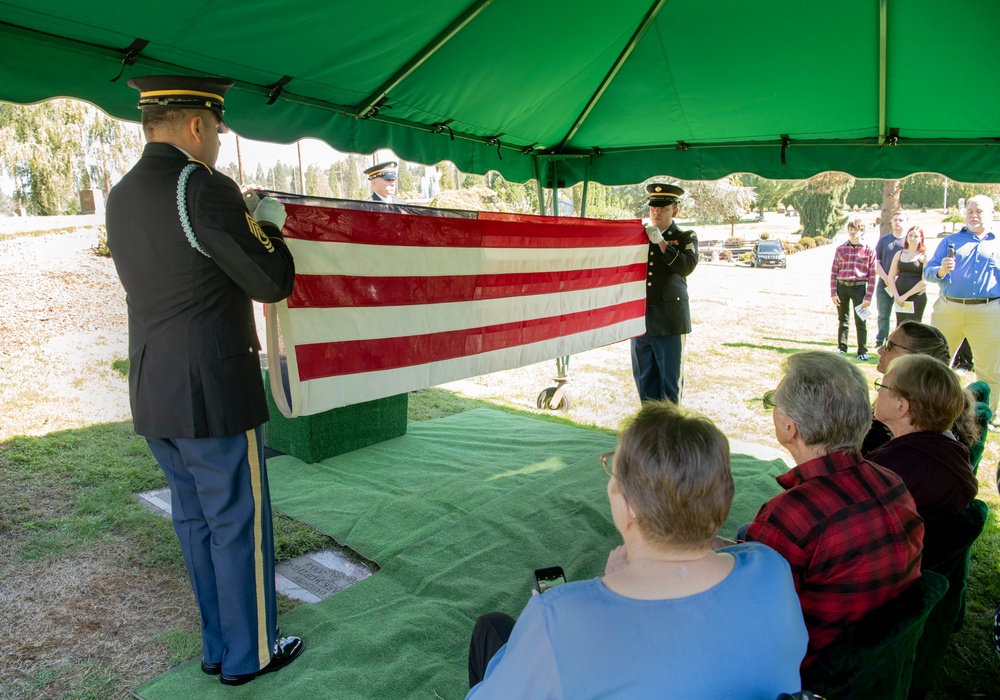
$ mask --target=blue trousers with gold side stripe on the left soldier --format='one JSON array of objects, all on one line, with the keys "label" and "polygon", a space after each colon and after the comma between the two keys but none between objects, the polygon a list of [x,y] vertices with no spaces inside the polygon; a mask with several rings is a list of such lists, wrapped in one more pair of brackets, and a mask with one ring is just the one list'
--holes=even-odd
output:
[{"label": "blue trousers with gold side stripe on the left soldier", "polygon": [[277,630],[271,497],[260,427],[146,438],[170,486],[174,531],[201,613],[203,658],[226,675],[271,660]]}]

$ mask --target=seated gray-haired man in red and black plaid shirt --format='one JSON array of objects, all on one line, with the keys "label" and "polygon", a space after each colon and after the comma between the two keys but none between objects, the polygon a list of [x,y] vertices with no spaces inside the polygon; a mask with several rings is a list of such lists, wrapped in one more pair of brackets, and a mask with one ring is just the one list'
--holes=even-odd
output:
[{"label": "seated gray-haired man in red and black plaid shirt", "polygon": [[858,452],[871,427],[858,367],[828,352],[792,355],[768,402],[796,466],[777,477],[785,491],[761,506],[745,538],[792,567],[809,631],[806,668],[846,627],[920,578],[924,523],[902,479]]}]

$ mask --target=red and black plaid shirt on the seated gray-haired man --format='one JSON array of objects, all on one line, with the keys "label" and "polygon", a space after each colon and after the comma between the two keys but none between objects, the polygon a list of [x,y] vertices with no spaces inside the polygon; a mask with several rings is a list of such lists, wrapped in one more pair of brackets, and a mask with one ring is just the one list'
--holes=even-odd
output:
[{"label": "red and black plaid shirt on the seated gray-haired man", "polygon": [[792,567],[809,630],[805,668],[865,613],[920,578],[924,523],[906,485],[856,452],[834,452],[777,477],[747,540]]}]

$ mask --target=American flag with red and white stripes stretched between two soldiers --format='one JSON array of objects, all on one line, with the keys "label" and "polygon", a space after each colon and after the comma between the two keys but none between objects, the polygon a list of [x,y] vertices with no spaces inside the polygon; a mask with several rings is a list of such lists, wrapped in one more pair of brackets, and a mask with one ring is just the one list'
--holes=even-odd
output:
[{"label": "American flag with red and white stripes stretched between two soldiers", "polygon": [[296,276],[267,344],[289,417],[645,332],[638,221],[278,198]]}]

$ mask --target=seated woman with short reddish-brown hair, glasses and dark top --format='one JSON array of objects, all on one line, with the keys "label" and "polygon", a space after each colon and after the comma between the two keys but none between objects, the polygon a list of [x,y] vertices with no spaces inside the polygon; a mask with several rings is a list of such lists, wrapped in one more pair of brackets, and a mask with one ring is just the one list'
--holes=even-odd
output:
[{"label": "seated woman with short reddish-brown hair, glasses and dark top", "polygon": [[897,357],[875,388],[875,417],[893,438],[867,458],[903,479],[930,533],[979,490],[968,448],[946,434],[965,411],[966,392],[948,365],[926,355]]}]

